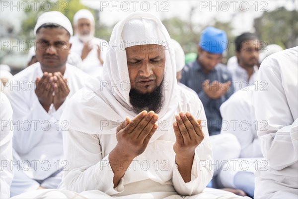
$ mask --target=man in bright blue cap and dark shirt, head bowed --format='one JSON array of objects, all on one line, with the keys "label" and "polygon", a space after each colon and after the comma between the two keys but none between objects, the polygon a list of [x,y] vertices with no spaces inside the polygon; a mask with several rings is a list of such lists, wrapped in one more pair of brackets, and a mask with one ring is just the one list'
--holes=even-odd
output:
[{"label": "man in bright blue cap and dark shirt, head bowed", "polygon": [[184,67],[180,81],[199,95],[205,108],[210,135],[221,132],[220,106],[233,94],[231,74],[221,63],[226,47],[227,38],[223,30],[211,26],[204,29],[198,57]]}]

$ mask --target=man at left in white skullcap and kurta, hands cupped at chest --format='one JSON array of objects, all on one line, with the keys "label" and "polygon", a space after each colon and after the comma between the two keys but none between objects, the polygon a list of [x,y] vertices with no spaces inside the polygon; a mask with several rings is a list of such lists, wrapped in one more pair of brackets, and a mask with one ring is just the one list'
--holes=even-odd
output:
[{"label": "man at left in white skullcap and kurta, hands cupped at chest", "polygon": [[62,130],[67,124],[59,124],[59,118],[68,99],[88,78],[66,63],[73,29],[65,15],[43,13],[34,34],[39,62],[16,74],[6,90],[13,108],[13,158],[17,165],[11,196],[39,188],[55,189],[61,182],[66,166]]}]

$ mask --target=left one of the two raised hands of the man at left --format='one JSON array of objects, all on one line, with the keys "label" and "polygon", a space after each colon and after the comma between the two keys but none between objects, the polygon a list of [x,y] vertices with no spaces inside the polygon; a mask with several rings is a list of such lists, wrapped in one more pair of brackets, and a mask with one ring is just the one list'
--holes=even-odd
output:
[{"label": "left one of the two raised hands of the man at left", "polygon": [[48,112],[53,102],[53,74],[44,72],[42,78],[37,77],[35,81],[35,94],[42,105],[42,107]]}]

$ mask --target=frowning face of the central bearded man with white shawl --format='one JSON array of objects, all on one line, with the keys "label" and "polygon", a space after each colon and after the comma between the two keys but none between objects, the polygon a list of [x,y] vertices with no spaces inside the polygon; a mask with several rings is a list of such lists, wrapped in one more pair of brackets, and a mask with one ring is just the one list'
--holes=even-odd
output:
[{"label": "frowning face of the central bearded man with white shawl", "polygon": [[153,92],[164,76],[164,46],[138,45],[125,50],[131,89],[143,94]]}]

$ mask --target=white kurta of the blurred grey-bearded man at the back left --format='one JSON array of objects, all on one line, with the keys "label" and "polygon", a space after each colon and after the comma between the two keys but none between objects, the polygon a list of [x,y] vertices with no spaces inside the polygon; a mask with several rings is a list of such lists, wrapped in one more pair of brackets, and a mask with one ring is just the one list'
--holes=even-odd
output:
[{"label": "white kurta of the blurred grey-bearded man at the back left", "polygon": [[[71,51],[81,56],[82,50],[84,47],[83,42],[81,42],[76,35],[71,37],[70,42],[72,43]],[[87,73],[88,75],[92,77],[96,77],[102,74],[102,64],[100,64],[98,60],[96,45],[99,45],[100,49],[102,49],[102,51],[100,52],[100,57],[104,61],[106,57],[108,42],[103,39],[93,37],[93,39],[91,40],[91,43],[93,45],[93,49],[89,52],[87,57],[82,61],[80,69],[85,73]]]}]

